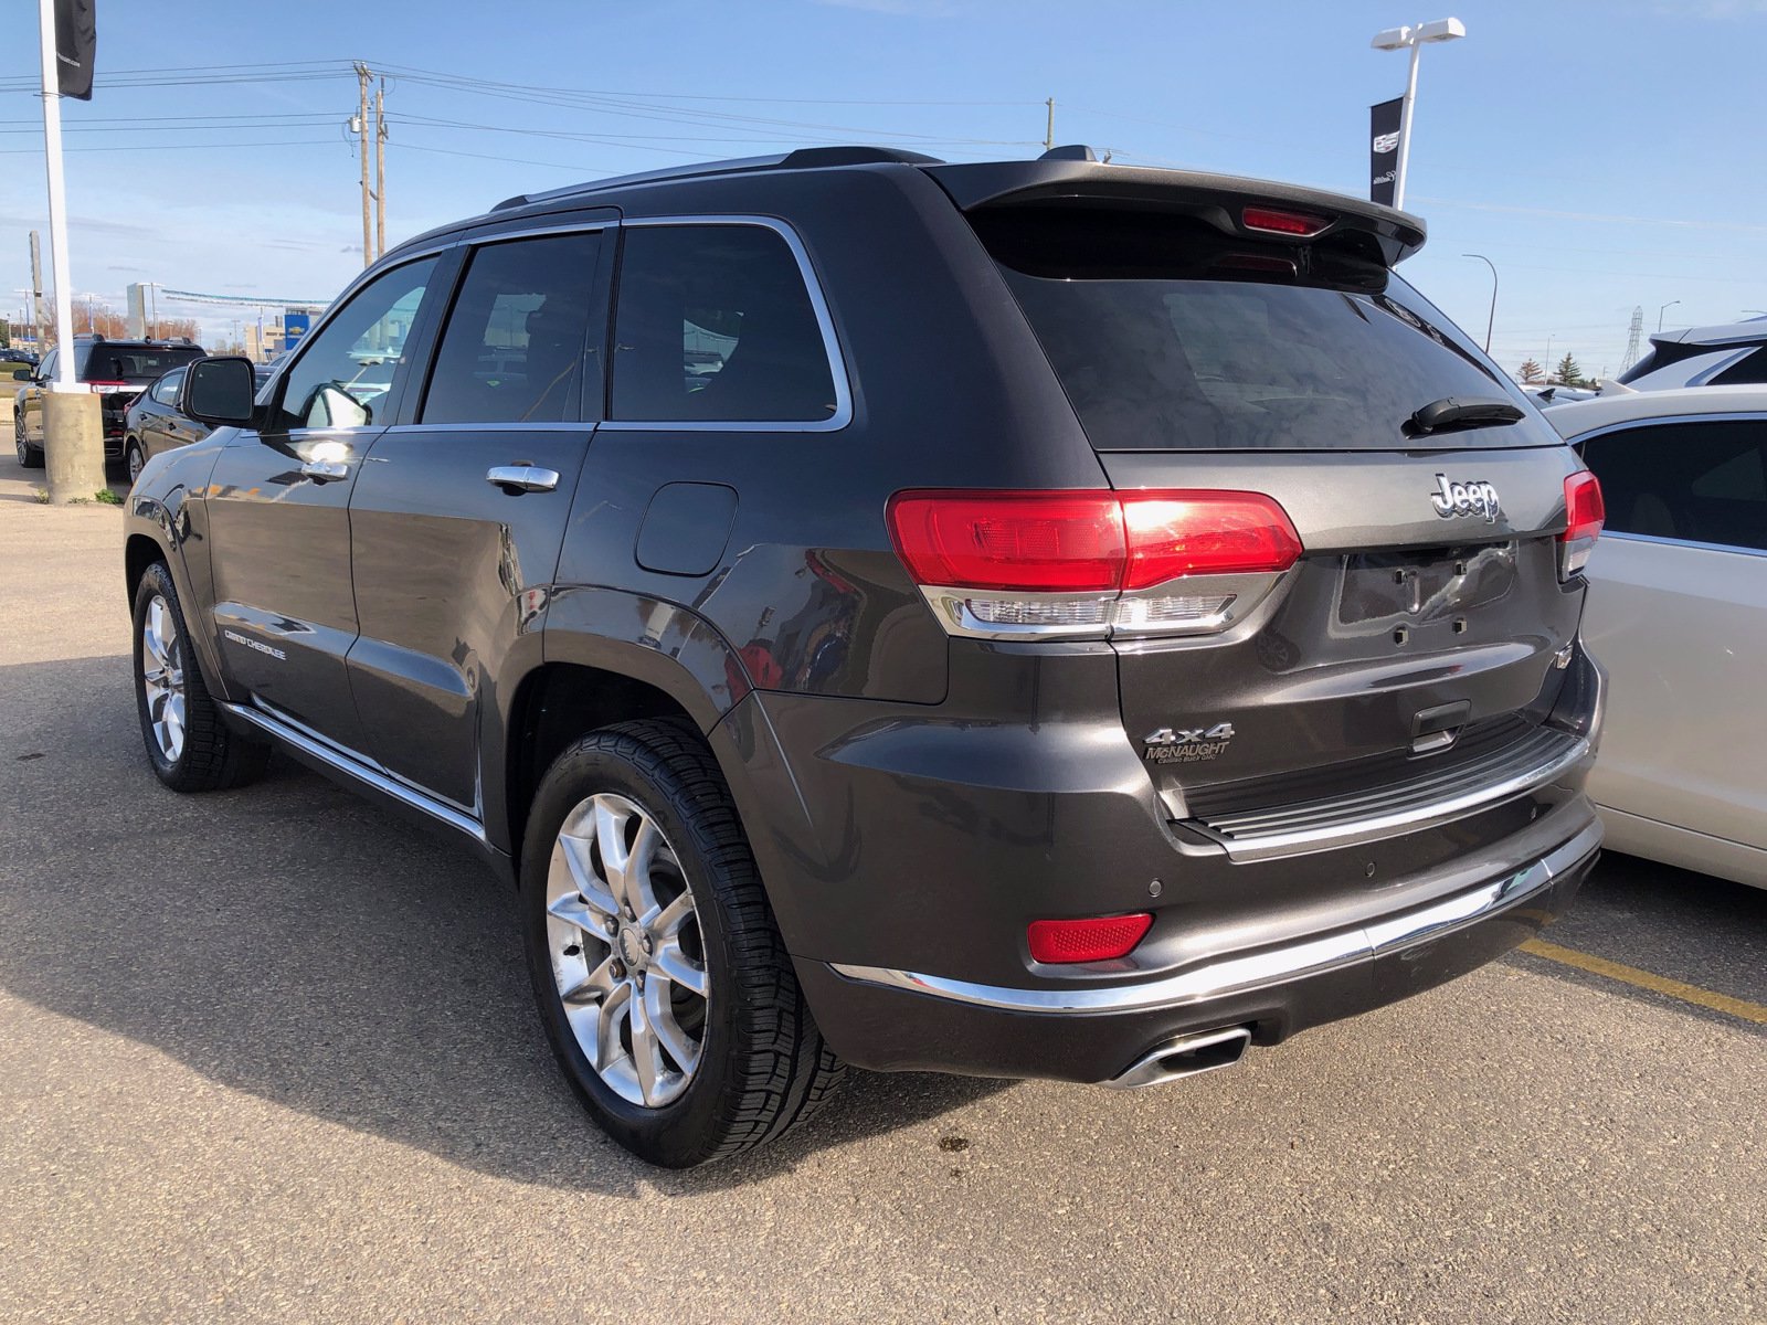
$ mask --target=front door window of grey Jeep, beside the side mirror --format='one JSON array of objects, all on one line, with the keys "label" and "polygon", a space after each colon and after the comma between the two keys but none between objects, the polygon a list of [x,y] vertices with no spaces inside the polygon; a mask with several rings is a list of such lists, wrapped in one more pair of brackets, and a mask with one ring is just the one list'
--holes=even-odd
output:
[{"label": "front door window of grey Jeep, beside the side mirror", "polygon": [[424,258],[375,277],[300,346],[300,359],[283,375],[277,431],[382,420],[435,265],[435,258]]}]

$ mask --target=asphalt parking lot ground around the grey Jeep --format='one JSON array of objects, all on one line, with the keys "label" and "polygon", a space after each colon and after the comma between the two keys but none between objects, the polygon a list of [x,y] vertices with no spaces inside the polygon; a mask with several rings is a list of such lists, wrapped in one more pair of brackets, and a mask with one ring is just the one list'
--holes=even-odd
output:
[{"label": "asphalt parking lot ground around the grey Jeep", "polygon": [[1767,1320],[1767,892],[1120,1095],[861,1076],[689,1175],[553,1071],[470,859],[148,774],[120,523],[0,433],[0,1320]]}]

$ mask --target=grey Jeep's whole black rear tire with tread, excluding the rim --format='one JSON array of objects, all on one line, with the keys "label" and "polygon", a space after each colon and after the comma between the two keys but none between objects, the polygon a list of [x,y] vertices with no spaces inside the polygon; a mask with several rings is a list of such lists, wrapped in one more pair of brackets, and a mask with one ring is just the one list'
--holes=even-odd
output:
[{"label": "grey Jeep's whole black rear tire with tread, excluding the rim", "polygon": [[[565,1019],[548,943],[546,880],[574,807],[613,793],[640,806],[673,848],[693,894],[710,998],[686,1090],[634,1104],[595,1072]],[[845,1067],[804,1005],[730,791],[684,723],[622,723],[578,740],[541,781],[521,852],[521,929],[546,1037],[595,1122],[640,1159],[691,1168],[749,1150],[808,1118]]]}]

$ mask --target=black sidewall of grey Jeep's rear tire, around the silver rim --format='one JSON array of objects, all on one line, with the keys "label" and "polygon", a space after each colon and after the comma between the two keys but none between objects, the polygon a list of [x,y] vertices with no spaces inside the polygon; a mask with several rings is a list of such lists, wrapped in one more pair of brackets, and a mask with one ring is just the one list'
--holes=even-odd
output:
[{"label": "black sidewall of grey Jeep's rear tire, around the silver rim", "polygon": [[[643,742],[631,735],[594,733],[560,756],[546,774],[528,814],[521,850],[521,931],[546,1037],[576,1094],[588,1104],[603,1129],[627,1150],[654,1164],[680,1168],[707,1157],[721,1132],[719,1115],[732,1079],[732,1049],[737,1037],[733,1016],[739,1011],[737,958],[716,885],[719,866],[705,857],[687,822],[687,814],[693,813],[691,797],[668,772],[668,765],[663,779],[654,781],[648,770],[631,760],[631,754],[643,749]],[[603,791],[634,802],[663,829],[693,892],[705,947],[710,1000],[700,1067],[682,1095],[661,1108],[633,1104],[601,1079],[565,1021],[564,1002],[551,972],[546,936],[546,878],[551,848],[565,816]]]}]

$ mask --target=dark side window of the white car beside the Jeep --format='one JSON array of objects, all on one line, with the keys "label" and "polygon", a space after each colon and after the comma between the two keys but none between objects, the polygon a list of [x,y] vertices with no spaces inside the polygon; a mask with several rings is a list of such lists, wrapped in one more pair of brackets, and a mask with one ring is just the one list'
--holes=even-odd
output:
[{"label": "dark side window of the white car beside the Jeep", "polygon": [[1640,424],[1583,445],[1608,530],[1767,551],[1767,420]]}]

